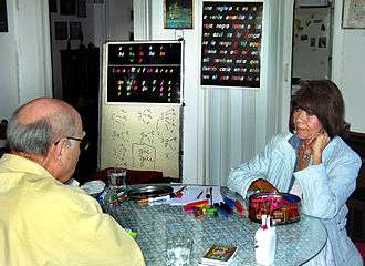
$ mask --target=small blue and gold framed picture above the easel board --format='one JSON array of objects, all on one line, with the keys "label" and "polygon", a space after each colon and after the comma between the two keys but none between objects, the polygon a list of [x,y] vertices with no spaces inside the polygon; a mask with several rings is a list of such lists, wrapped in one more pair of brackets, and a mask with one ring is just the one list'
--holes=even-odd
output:
[{"label": "small blue and gold framed picture above the easel board", "polygon": [[194,0],[164,0],[165,29],[192,29]]}]

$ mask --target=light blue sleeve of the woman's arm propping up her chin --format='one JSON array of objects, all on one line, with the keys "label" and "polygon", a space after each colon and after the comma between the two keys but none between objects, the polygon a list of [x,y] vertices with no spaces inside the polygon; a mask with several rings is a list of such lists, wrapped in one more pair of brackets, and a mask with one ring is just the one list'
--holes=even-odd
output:
[{"label": "light blue sleeve of the woman's arm propping up her chin", "polygon": [[319,218],[336,216],[355,190],[359,166],[359,156],[344,144],[324,153],[323,163],[294,172],[303,193],[302,212]]}]

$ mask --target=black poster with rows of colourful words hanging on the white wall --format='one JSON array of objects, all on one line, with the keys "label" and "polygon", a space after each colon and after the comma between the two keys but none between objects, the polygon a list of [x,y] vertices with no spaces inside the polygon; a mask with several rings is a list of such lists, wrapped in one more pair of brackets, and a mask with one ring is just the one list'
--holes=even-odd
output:
[{"label": "black poster with rows of colourful words hanging on the white wall", "polygon": [[260,88],[262,13],[262,1],[204,1],[201,85]]}]

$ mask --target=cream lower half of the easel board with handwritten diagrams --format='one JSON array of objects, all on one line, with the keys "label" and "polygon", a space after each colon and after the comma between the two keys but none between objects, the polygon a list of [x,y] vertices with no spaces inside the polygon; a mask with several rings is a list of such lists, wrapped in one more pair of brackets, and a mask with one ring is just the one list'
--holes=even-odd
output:
[{"label": "cream lower half of the easel board with handwritten diagrams", "polygon": [[179,177],[179,105],[103,108],[101,167],[161,171]]}]

